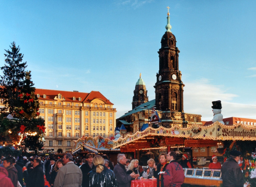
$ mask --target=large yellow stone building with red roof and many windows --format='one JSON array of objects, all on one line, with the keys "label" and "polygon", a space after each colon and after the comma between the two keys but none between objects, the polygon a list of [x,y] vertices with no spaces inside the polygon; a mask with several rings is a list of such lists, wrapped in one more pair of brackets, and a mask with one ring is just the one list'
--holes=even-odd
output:
[{"label": "large yellow stone building with red roof and many windows", "polygon": [[114,136],[116,109],[100,92],[36,89],[35,94],[40,117],[45,119],[45,149],[69,152],[74,149],[74,140],[83,136]]}]

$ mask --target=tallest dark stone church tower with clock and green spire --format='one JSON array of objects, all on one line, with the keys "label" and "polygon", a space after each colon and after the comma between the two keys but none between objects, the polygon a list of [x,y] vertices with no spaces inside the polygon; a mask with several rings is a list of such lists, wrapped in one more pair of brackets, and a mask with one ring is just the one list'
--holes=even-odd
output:
[{"label": "tallest dark stone church tower with clock and green spire", "polygon": [[[169,7],[167,7],[169,9]],[[179,71],[179,49],[176,47],[176,38],[170,31],[172,26],[167,13],[166,32],[161,39],[159,54],[159,72],[154,86],[156,93],[156,108],[162,111],[163,118],[170,112],[183,113],[183,87],[181,72]]]}]

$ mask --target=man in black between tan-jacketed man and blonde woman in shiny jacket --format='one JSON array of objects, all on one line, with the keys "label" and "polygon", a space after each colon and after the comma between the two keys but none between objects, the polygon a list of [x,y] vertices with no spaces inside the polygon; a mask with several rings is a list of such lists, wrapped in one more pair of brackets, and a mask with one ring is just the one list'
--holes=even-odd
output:
[{"label": "man in black between tan-jacketed man and blonde woman in shiny jacket", "polygon": [[86,164],[81,165],[80,169],[82,171],[82,187],[89,187],[89,175],[88,173],[94,169],[93,165],[93,154],[88,153],[86,155]]}]

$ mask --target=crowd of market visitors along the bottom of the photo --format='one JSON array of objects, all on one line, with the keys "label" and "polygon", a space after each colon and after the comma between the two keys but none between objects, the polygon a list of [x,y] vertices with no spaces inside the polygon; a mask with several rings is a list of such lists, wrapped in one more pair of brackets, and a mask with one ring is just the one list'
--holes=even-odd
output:
[{"label": "crowd of market visitors along the bottom of the photo", "polygon": [[[60,157],[3,157],[0,165],[0,184],[5,187],[130,187],[131,181],[141,178],[156,178],[157,187],[179,187],[184,181],[183,168],[191,167],[187,157],[178,162],[175,151],[161,153],[156,159],[148,159],[147,167],[138,159],[127,159],[125,154],[117,155],[117,164],[107,155],[91,153],[86,158],[76,159],[67,153]],[[236,182],[242,184],[239,165],[241,152],[231,151],[230,159],[221,168],[224,186]],[[217,157],[212,156],[213,166],[219,167]],[[183,167],[182,167],[183,165]],[[230,177],[231,176],[231,177]],[[228,185],[227,185],[228,184]]]}]

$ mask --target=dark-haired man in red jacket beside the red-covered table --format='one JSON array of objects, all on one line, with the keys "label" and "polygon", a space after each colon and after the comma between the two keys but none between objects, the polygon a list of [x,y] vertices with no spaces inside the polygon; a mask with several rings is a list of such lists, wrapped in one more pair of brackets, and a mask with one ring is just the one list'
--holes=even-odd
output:
[{"label": "dark-haired man in red jacket beside the red-covered table", "polygon": [[175,151],[170,151],[167,154],[167,161],[169,164],[166,166],[163,175],[164,187],[175,186],[180,187],[183,184],[185,175],[181,165],[176,161],[177,154]]}]

